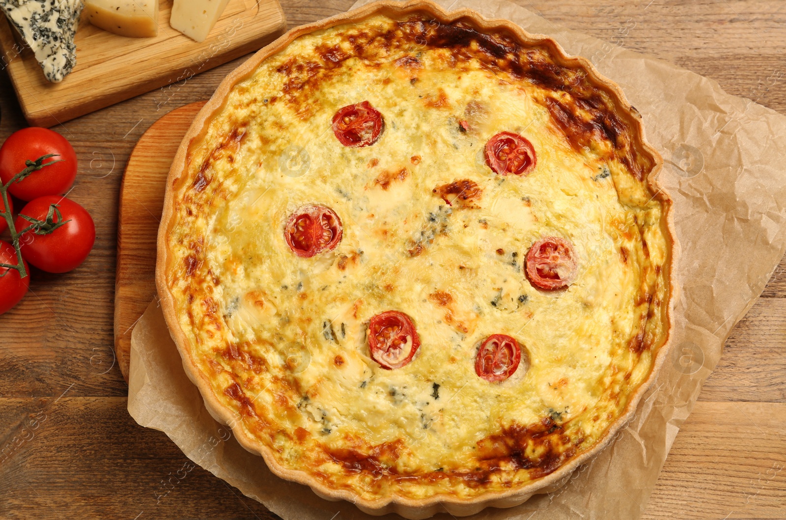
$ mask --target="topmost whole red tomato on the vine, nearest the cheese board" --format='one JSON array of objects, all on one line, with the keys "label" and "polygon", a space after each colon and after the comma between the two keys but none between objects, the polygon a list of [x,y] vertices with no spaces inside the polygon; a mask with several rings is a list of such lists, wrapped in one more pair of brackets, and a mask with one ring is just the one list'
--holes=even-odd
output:
[{"label": "topmost whole red tomato on the vine, nearest the cheese board", "polygon": [[68,192],[76,179],[76,152],[61,134],[36,126],[14,132],[3,143],[0,148],[0,181],[8,183],[27,167],[25,161],[35,161],[50,154],[57,154],[57,157],[44,160],[45,164],[61,162],[42,167],[23,181],[14,182],[9,186],[9,192],[21,200]]}]

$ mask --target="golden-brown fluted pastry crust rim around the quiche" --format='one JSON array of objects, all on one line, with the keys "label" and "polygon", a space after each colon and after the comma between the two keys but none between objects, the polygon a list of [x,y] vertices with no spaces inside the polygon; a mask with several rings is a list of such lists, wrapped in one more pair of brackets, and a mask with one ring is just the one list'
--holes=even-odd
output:
[{"label": "golden-brown fluted pastry crust rim around the quiche", "polygon": [[[167,234],[171,229],[171,219],[173,216],[173,198],[174,192],[172,190],[175,181],[186,170],[186,157],[191,143],[194,140],[200,139],[202,134],[207,129],[207,123],[215,112],[222,108],[222,104],[226,99],[230,90],[242,79],[252,74],[252,72],[263,62],[267,57],[270,57],[281,50],[285,49],[294,39],[301,35],[306,35],[313,31],[319,31],[328,27],[333,27],[339,24],[355,23],[365,20],[369,16],[376,14],[384,14],[391,17],[399,17],[410,13],[428,13],[436,20],[442,23],[449,24],[451,22],[462,20],[472,24],[479,31],[482,32],[501,32],[505,35],[510,35],[517,41],[525,44],[538,42],[545,45],[549,49],[549,53],[556,61],[560,61],[570,68],[581,68],[587,72],[587,76],[593,84],[611,94],[615,102],[616,113],[620,115],[627,123],[630,123],[630,128],[637,138],[637,144],[641,145],[641,151],[652,157],[654,167],[647,174],[647,184],[649,189],[655,193],[655,198],[663,204],[664,217],[667,229],[664,229],[664,236],[667,236],[668,246],[670,246],[670,260],[667,262],[669,269],[669,291],[670,298],[667,306],[667,321],[668,328],[666,337],[658,350],[656,359],[653,361],[652,370],[645,383],[637,389],[634,395],[630,398],[625,412],[612,423],[608,428],[604,438],[597,441],[597,444],[583,452],[581,455],[575,456],[569,460],[564,466],[558,468],[553,473],[539,478],[527,485],[523,485],[518,489],[511,489],[501,492],[488,492],[480,496],[473,497],[472,499],[457,499],[454,496],[436,495],[426,499],[412,500],[402,496],[391,496],[387,498],[380,498],[378,500],[366,500],[354,493],[341,489],[330,489],[323,485],[316,478],[312,477],[306,471],[295,471],[282,467],[281,464],[275,459],[273,452],[270,448],[263,443],[249,438],[241,428],[234,428],[235,419],[231,412],[224,408],[215,396],[211,383],[200,372],[193,362],[191,352],[189,350],[189,343],[185,340],[185,334],[178,325],[178,320],[174,315],[174,302],[171,293],[167,288],[165,273],[167,272],[167,265],[170,260],[169,251],[167,248]],[[674,280],[674,269],[677,265],[679,247],[674,232],[674,207],[670,197],[663,191],[662,186],[658,181],[658,174],[663,165],[663,158],[656,152],[655,148],[648,145],[644,137],[644,126],[641,121],[639,112],[628,103],[623,91],[619,86],[609,79],[605,79],[597,72],[593,64],[582,57],[568,57],[559,43],[545,35],[531,35],[516,24],[508,20],[489,20],[480,16],[472,9],[457,9],[454,11],[446,12],[439,5],[431,2],[430,0],[412,0],[410,2],[373,2],[365,5],[359,9],[354,9],[347,13],[332,16],[325,20],[315,22],[314,24],[303,25],[288,31],[285,35],[278,38],[270,45],[260,49],[253,57],[247,60],[239,68],[235,69],[230,75],[224,79],[219,85],[219,88],[211,97],[211,100],[200,110],[196,115],[191,127],[183,141],[178,148],[177,155],[174,157],[172,167],[167,178],[167,189],[164,198],[163,214],[161,218],[161,225],[159,228],[158,242],[157,242],[157,258],[156,258],[156,287],[161,302],[161,309],[163,310],[164,318],[169,326],[172,339],[178,347],[178,351],[183,360],[183,368],[189,379],[200,390],[200,394],[204,398],[205,406],[215,419],[222,423],[226,423],[233,428],[233,433],[237,437],[237,441],[247,449],[249,452],[258,453],[263,457],[267,466],[278,477],[285,478],[286,480],[298,482],[299,484],[308,485],[314,493],[327,500],[348,500],[357,505],[362,511],[372,515],[386,515],[387,513],[395,512],[406,518],[428,518],[441,511],[448,511],[451,515],[473,515],[478,511],[483,510],[485,507],[512,507],[522,504],[529,499],[534,493],[546,493],[551,489],[556,489],[561,483],[578,467],[580,464],[597,456],[610,442],[615,438],[615,434],[626,426],[630,419],[634,416],[637,405],[641,398],[647,393],[649,388],[654,383],[660,368],[663,366],[664,361],[668,357],[671,337],[674,331],[674,302],[678,297],[678,287]]]}]

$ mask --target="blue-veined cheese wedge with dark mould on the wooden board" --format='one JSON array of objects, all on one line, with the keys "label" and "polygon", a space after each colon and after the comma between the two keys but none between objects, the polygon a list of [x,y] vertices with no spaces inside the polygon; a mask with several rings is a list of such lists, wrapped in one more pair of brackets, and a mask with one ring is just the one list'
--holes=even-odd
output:
[{"label": "blue-veined cheese wedge with dark mould on the wooden board", "polygon": [[44,76],[61,82],[76,64],[82,0],[0,0],[0,9],[35,53]]}]

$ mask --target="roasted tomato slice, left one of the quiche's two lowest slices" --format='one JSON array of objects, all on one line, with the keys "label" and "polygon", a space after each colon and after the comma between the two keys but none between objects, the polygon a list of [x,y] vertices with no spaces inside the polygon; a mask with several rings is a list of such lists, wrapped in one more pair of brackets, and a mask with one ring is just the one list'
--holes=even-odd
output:
[{"label": "roasted tomato slice, left one of the quiche's two lowest slices", "polygon": [[405,313],[387,310],[369,322],[369,350],[382,368],[402,368],[421,346],[415,325]]}]

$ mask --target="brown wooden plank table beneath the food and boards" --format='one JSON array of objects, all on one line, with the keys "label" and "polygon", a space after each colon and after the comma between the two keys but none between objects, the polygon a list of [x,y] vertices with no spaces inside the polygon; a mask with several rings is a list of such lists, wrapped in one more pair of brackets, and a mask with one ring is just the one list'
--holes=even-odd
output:
[{"label": "brown wooden plank table beneath the food and boards", "polygon": [[[607,41],[628,27],[623,46],[786,114],[782,0],[517,1]],[[284,4],[294,27],[352,0]],[[171,478],[187,459],[164,434],[130,418],[112,355],[117,200],[127,158],[160,115],[208,99],[240,63],[55,128],[79,156],[70,196],[93,214],[97,242],[73,273],[35,271],[28,297],[0,317],[0,518],[277,518],[199,467]],[[5,139],[25,125],[3,72],[0,106]],[[725,347],[643,518],[786,518],[786,262]]]}]

